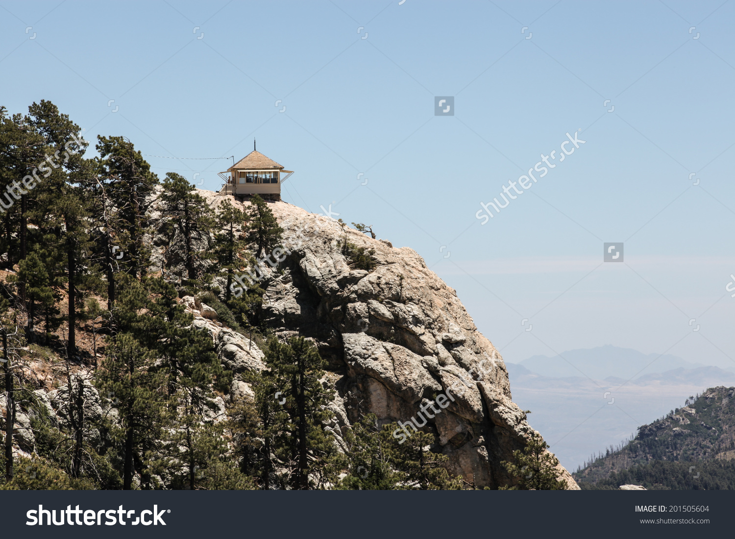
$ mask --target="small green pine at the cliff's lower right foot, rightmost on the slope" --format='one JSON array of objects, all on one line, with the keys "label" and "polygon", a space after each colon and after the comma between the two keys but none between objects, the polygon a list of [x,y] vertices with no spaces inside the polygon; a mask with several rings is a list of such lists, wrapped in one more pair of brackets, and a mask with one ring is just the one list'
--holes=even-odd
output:
[{"label": "small green pine at the cliff's lower right foot, rightmost on the slope", "polygon": [[559,480],[559,460],[547,451],[548,444],[535,432],[526,440],[523,450],[513,451],[513,462],[501,464],[516,483],[501,490],[564,490],[566,482]]}]

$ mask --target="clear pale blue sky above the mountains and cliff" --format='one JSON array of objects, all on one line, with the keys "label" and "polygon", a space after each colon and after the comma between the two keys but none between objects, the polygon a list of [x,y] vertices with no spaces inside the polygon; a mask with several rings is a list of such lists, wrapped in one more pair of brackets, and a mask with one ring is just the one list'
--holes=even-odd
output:
[{"label": "clear pale blue sky above the mountains and cliff", "polygon": [[[734,24],[722,0],[0,1],[0,104],[156,156],[257,138],[295,171],[286,201],[418,251],[506,361],[613,344],[733,368]],[[148,160],[212,190],[231,163]]]}]

